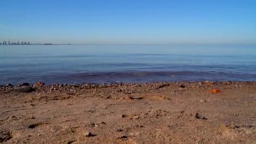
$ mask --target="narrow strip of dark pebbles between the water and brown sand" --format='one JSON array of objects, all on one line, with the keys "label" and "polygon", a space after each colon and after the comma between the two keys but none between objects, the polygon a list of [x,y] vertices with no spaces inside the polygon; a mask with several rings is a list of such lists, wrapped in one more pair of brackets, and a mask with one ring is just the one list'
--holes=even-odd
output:
[{"label": "narrow strip of dark pebbles between the water and brown sand", "polygon": [[[33,85],[30,85],[29,83],[22,83],[19,85],[12,85],[12,84],[7,84],[7,85],[0,85],[0,90],[5,90],[5,91],[15,91],[16,89],[22,89],[22,88],[32,88],[33,91],[42,91],[42,90],[67,90],[70,88],[79,88],[79,89],[90,89],[90,88],[112,88],[112,87],[151,87],[153,89],[157,88],[162,88],[166,86],[171,86],[173,87],[179,87],[181,85],[187,85],[189,87],[201,87],[201,88],[213,88],[213,87],[218,87],[221,88],[222,86],[225,85],[237,85],[237,84],[243,84],[243,85],[256,85],[256,81],[215,81],[215,82],[210,82],[210,81],[194,81],[194,82],[184,82],[184,81],[177,81],[177,82],[149,82],[149,83],[103,83],[103,84],[98,84],[98,83],[74,83],[74,84],[45,84],[41,82],[37,82]],[[42,89],[43,88],[43,89]]]}]

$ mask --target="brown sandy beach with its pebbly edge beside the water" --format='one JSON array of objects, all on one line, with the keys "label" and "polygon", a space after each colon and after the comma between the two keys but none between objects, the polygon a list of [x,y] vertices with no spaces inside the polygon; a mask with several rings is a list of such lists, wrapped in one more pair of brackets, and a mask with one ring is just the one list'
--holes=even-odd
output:
[{"label": "brown sandy beach with its pebbly edge beside the water", "polygon": [[0,142],[252,144],[255,110],[256,82],[8,86]]}]

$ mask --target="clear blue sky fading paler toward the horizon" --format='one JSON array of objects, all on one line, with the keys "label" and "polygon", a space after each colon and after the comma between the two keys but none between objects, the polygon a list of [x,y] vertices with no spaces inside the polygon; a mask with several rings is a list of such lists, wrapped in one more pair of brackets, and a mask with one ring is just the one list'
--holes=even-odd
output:
[{"label": "clear blue sky fading paler toward the horizon", "polygon": [[256,0],[2,0],[3,40],[256,44]]}]

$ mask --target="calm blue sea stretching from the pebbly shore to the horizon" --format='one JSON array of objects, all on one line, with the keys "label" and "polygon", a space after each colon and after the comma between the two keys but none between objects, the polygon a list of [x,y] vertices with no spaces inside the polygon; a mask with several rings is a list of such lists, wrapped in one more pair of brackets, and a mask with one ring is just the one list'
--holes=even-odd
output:
[{"label": "calm blue sea stretching from the pebbly shore to the horizon", "polygon": [[0,84],[255,81],[255,45],[0,45]]}]

